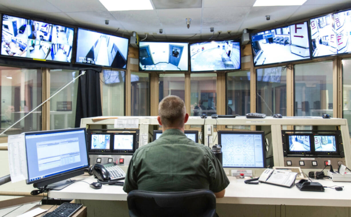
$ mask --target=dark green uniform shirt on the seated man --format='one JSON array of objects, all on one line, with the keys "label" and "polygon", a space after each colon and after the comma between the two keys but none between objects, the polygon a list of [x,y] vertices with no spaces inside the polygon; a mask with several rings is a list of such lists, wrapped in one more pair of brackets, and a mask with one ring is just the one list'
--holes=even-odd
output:
[{"label": "dark green uniform shirt on the seated man", "polygon": [[168,129],[135,151],[123,190],[220,192],[228,185],[223,167],[210,148],[188,139],[181,130]]}]

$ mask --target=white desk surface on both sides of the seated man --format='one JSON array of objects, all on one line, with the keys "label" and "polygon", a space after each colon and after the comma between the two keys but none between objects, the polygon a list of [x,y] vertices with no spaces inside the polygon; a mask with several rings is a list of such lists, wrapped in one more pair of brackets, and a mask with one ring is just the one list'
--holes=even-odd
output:
[{"label": "white desk surface on both sides of the seated man", "polygon": [[[316,180],[323,186],[345,186],[343,191],[325,188],[324,192],[300,191],[291,188],[260,183],[245,184],[243,179],[228,177],[229,186],[224,198],[217,198],[217,203],[262,204],[262,205],[305,205],[305,206],[351,206],[351,183]],[[89,175],[72,178],[88,183],[97,181]],[[297,181],[296,181],[297,182]],[[87,183],[77,181],[60,191],[50,191],[51,198],[87,199],[87,200],[127,200],[127,193],[122,186],[103,185],[101,189],[92,189]]]}]

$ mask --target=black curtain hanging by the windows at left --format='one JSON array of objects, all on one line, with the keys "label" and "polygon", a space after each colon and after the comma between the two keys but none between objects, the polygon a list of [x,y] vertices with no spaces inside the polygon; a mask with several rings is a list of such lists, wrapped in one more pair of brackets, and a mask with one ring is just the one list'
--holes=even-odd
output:
[{"label": "black curtain hanging by the windows at left", "polygon": [[[82,71],[79,71],[81,74]],[[80,119],[84,117],[102,116],[100,96],[100,73],[87,69],[79,77],[77,109],[75,111],[75,127],[80,127]]]}]

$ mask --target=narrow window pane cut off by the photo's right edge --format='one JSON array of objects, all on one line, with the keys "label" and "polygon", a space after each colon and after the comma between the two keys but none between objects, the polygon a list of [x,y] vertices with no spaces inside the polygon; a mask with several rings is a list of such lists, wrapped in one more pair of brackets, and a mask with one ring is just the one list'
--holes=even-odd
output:
[{"label": "narrow window pane cut off by the photo's right edge", "polygon": [[347,119],[351,137],[351,59],[343,59],[343,118]]}]

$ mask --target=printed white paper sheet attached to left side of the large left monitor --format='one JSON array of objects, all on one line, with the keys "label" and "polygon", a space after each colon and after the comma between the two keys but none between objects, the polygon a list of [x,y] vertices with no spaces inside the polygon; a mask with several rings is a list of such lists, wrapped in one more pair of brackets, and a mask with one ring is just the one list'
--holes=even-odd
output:
[{"label": "printed white paper sheet attached to left side of the large left monitor", "polygon": [[24,134],[9,135],[7,142],[11,182],[27,179],[27,160]]}]

